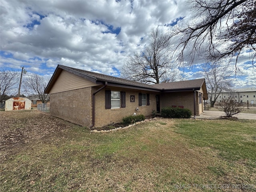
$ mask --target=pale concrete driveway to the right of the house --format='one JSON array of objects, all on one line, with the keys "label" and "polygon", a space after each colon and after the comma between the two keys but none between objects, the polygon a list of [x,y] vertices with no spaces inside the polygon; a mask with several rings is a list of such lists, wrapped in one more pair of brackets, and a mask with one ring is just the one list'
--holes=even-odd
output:
[{"label": "pale concrete driveway to the right of the house", "polygon": [[[223,111],[210,111],[210,110],[204,110],[204,112],[200,116],[196,116],[198,119],[216,119],[220,116],[225,116],[225,113]],[[194,117],[194,116],[192,116]],[[251,113],[239,113],[234,115],[234,117],[237,117],[238,119],[252,119],[256,120],[256,114]]]}]

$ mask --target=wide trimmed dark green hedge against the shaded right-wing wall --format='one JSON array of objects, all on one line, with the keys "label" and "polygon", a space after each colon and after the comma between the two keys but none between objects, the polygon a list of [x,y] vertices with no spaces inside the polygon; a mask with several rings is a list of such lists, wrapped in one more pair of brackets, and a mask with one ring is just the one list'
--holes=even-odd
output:
[{"label": "wide trimmed dark green hedge against the shaded right-wing wall", "polygon": [[190,118],[191,115],[189,109],[165,107],[161,110],[161,116],[164,118]]}]

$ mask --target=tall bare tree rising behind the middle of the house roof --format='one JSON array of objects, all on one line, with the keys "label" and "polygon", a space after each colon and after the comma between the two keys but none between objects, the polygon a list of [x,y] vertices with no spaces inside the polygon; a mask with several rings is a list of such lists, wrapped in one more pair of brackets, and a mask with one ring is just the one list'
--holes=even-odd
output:
[{"label": "tall bare tree rising behind the middle of the house roof", "polygon": [[179,73],[173,69],[170,58],[170,40],[167,34],[156,28],[150,32],[149,44],[141,52],[129,56],[121,76],[143,83],[160,83],[177,80]]}]

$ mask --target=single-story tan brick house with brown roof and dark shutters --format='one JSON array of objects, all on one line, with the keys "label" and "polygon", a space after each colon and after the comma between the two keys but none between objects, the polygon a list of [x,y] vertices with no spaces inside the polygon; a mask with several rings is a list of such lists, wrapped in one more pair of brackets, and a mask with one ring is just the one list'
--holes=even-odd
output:
[{"label": "single-story tan brick house with brown roof and dark shutters", "polygon": [[62,65],[44,92],[52,116],[90,128],[166,106],[188,108],[195,117],[203,111],[203,96],[208,99],[204,79],[149,85]]}]

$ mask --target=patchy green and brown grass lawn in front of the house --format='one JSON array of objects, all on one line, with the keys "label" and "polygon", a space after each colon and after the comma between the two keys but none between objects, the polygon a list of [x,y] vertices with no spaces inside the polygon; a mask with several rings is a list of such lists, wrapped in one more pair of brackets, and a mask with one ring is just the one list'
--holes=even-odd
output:
[{"label": "patchy green and brown grass lawn in front of the house", "polygon": [[68,125],[2,147],[0,191],[256,191],[255,120],[158,119],[109,133]]}]

